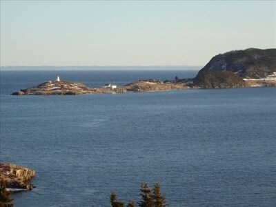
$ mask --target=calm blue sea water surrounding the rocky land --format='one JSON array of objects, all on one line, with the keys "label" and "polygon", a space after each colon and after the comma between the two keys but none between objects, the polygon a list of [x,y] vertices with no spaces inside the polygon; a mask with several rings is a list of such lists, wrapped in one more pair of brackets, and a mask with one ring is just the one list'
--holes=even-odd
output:
[{"label": "calm blue sea water surrounding the rocky land", "polygon": [[197,71],[2,71],[1,162],[37,171],[15,206],[138,201],[141,182],[170,206],[276,205],[276,88],[9,95],[57,73],[99,86]]}]

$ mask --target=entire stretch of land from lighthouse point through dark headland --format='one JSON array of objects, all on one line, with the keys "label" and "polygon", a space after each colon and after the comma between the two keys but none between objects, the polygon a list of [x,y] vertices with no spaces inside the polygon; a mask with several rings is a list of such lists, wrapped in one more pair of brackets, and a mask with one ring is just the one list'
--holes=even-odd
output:
[{"label": "entire stretch of land from lighthouse point through dark headland", "polygon": [[144,92],[156,90],[179,90],[188,88],[241,88],[253,86],[276,86],[276,49],[249,48],[219,54],[199,70],[194,79],[156,81],[139,80],[126,86],[106,84],[100,88],[88,88],[82,83],[46,81],[12,95],[82,95],[117,92]]}]

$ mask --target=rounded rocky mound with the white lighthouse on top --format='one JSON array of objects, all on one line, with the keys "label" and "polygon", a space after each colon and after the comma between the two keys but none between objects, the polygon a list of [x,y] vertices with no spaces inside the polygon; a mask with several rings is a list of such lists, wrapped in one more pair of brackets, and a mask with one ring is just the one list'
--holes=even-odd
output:
[{"label": "rounded rocky mound with the white lighthouse on top", "polygon": [[95,90],[82,83],[71,81],[46,81],[27,89],[13,92],[12,95],[81,95],[93,93]]}]

